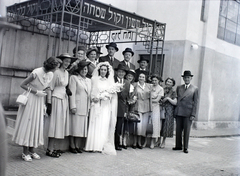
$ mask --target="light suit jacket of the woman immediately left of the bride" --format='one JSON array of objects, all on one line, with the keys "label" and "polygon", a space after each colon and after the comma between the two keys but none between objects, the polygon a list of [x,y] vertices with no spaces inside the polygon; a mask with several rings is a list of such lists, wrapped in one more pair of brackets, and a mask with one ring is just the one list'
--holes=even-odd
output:
[{"label": "light suit jacket of the woman immediately left of the bride", "polygon": [[77,109],[76,115],[88,115],[90,109],[91,80],[81,76],[72,75],[69,81],[70,109]]}]

